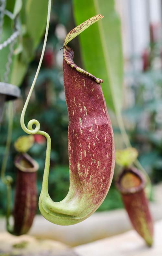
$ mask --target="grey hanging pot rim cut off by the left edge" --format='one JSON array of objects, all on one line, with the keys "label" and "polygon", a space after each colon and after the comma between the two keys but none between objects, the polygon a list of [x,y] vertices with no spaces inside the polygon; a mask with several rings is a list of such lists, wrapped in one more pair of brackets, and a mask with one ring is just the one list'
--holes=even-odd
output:
[{"label": "grey hanging pot rim cut off by the left edge", "polygon": [[20,97],[20,88],[16,85],[0,82],[0,94],[6,95],[6,101],[15,100]]}]

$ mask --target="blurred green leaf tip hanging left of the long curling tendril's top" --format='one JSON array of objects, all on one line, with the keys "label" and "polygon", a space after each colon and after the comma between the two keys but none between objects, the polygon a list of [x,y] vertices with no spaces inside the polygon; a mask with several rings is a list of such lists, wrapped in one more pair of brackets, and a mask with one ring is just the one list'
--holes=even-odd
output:
[{"label": "blurred green leaf tip hanging left of the long curling tendril's top", "polygon": [[26,25],[27,33],[37,47],[43,35],[47,21],[48,1],[28,0],[26,4]]}]

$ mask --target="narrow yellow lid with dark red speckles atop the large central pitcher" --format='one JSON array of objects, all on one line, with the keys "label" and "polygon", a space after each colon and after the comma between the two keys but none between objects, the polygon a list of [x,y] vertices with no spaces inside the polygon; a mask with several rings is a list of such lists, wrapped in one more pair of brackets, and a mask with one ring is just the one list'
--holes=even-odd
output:
[{"label": "narrow yellow lid with dark red speckles atop the large central pitcher", "polygon": [[102,15],[98,14],[86,21],[84,21],[83,23],[81,23],[80,25],[78,25],[77,27],[75,27],[74,29],[72,29],[66,36],[65,41],[64,41],[64,46],[67,45],[72,39],[74,39],[77,35],[79,35],[80,33],[82,33],[84,30],[86,30],[89,26],[91,26],[92,24],[94,24],[96,21],[101,20],[102,18],[104,18]]}]

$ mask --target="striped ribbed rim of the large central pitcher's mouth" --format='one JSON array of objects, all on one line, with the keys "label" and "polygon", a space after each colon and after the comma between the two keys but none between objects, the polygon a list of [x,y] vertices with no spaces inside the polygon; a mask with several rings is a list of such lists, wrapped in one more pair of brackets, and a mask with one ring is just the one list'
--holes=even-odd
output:
[{"label": "striped ribbed rim of the large central pitcher's mouth", "polygon": [[66,62],[67,65],[69,65],[71,68],[75,69],[76,71],[78,71],[79,73],[88,76],[89,78],[93,79],[97,84],[103,83],[103,80],[100,78],[97,78],[96,76],[90,74],[89,72],[85,71],[84,69],[78,67],[74,61],[74,51],[72,48],[68,47],[68,46],[64,46],[63,47],[63,57],[64,57],[64,61]]}]

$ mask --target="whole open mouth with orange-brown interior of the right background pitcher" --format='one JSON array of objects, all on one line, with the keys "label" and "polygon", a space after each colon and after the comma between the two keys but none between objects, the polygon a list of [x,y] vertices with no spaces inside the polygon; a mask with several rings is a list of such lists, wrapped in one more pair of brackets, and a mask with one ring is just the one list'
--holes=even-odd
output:
[{"label": "whole open mouth with orange-brown interior of the right background pitcher", "polygon": [[116,186],[121,194],[134,194],[145,188],[145,177],[136,168],[124,168],[118,177]]}]

